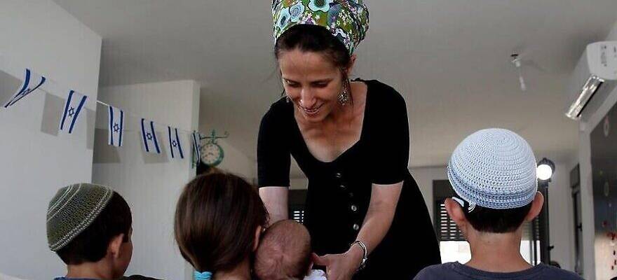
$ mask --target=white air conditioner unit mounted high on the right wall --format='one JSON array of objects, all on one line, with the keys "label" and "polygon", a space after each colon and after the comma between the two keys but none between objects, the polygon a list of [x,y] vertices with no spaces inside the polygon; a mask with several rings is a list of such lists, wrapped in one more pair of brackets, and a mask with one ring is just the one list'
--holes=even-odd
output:
[{"label": "white air conditioner unit mounted high on the right wall", "polygon": [[[604,101],[617,84],[617,41],[590,43],[578,60],[569,81],[569,107],[566,116],[573,120],[581,118],[592,97]],[[599,95],[602,97],[598,98]]]}]

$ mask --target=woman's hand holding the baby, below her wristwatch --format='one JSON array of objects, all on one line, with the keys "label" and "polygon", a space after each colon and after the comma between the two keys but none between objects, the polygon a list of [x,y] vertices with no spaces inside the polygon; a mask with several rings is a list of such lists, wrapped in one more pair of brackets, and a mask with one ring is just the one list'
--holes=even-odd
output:
[{"label": "woman's hand holding the baby, below her wristwatch", "polygon": [[326,267],[328,280],[350,280],[355,274],[364,252],[360,246],[351,246],[348,251],[336,255],[318,256],[313,253],[313,263]]}]

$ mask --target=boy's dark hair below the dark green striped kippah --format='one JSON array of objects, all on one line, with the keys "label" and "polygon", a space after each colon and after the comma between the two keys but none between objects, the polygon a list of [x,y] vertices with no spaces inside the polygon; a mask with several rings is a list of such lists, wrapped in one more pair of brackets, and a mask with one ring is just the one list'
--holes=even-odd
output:
[{"label": "boy's dark hair below the dark green striped kippah", "polygon": [[111,239],[124,234],[123,241],[128,241],[132,224],[133,218],[128,203],[121,195],[114,192],[107,206],[90,226],[56,253],[67,265],[97,262],[107,254],[107,246]]}]

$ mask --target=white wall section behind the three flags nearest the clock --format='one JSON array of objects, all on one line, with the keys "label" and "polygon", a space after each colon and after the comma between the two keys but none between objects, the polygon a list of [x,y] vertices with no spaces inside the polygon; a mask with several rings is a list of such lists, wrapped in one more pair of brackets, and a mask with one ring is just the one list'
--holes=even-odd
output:
[{"label": "white wall section behind the three flags nearest the clock", "polygon": [[[167,127],[192,131],[198,124],[199,85],[192,80],[102,87],[100,99],[136,114],[125,120],[123,147],[107,146],[107,113],[97,115],[93,182],[118,190],[133,212],[133,260],[127,275],[184,279],[187,265],[173,239],[177,197],[195,174],[191,141],[181,134],[185,158],[169,155]],[[140,118],[156,123],[161,155],[142,148]]]}]

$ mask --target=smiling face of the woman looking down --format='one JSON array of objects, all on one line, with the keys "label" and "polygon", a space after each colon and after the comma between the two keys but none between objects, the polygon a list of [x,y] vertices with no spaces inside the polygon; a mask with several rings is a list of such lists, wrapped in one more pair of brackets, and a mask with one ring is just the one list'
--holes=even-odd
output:
[{"label": "smiling face of the woman looking down", "polygon": [[295,49],[278,58],[283,87],[305,120],[318,123],[338,106],[343,72],[318,52]]}]

